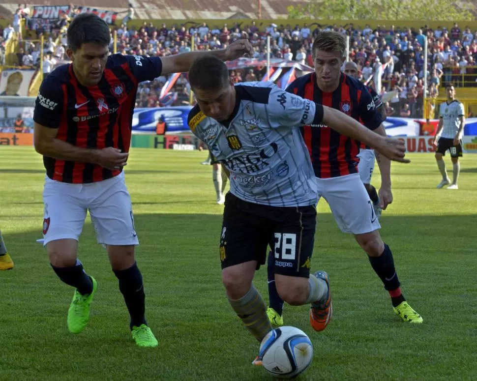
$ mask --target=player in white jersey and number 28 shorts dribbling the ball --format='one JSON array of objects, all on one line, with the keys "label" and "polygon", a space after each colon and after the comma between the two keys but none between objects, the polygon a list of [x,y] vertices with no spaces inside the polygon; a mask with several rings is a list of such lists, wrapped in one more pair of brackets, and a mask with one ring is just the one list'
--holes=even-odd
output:
[{"label": "player in white jersey and number 28 shorts dribbling the ball", "polygon": [[[332,313],[328,275],[310,274],[317,182],[298,127],[326,123],[398,161],[406,161],[403,144],[272,83],[234,86],[214,57],[195,60],[189,81],[197,99],[189,127],[230,171],[219,250],[229,303],[261,342],[272,327],[252,280],[269,244],[278,293],[290,305],[311,304],[310,323],[324,329]],[[260,354],[253,363],[261,364]]]}]

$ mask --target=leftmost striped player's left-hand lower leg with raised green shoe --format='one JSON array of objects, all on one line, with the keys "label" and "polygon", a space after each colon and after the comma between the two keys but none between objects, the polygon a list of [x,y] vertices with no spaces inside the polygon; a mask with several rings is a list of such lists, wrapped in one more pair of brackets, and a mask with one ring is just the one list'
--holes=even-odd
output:
[{"label": "leftmost striped player's left-hand lower leg with raised green shoe", "polygon": [[97,289],[77,258],[76,239],[57,239],[46,244],[50,264],[60,280],[75,288],[68,310],[67,325],[71,333],[80,333],[89,322],[89,306]]}]

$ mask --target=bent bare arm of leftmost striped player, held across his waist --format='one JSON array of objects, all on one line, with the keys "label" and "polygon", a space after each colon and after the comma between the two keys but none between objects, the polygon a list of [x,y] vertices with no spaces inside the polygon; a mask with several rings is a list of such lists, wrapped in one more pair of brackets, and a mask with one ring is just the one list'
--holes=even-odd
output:
[{"label": "bent bare arm of leftmost striped player, held across his waist", "polygon": [[33,127],[35,150],[44,156],[59,160],[98,164],[110,170],[120,169],[126,165],[129,154],[121,153],[118,148],[80,148],[57,139],[58,128],[45,127],[36,122]]}]

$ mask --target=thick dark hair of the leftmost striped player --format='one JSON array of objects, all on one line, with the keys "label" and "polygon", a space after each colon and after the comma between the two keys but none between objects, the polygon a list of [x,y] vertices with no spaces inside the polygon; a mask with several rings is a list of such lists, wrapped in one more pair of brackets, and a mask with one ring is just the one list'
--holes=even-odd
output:
[{"label": "thick dark hair of the leftmost striped player", "polygon": [[76,16],[68,27],[66,33],[68,46],[76,52],[82,44],[94,43],[109,46],[111,32],[108,24],[93,13],[82,13]]}]

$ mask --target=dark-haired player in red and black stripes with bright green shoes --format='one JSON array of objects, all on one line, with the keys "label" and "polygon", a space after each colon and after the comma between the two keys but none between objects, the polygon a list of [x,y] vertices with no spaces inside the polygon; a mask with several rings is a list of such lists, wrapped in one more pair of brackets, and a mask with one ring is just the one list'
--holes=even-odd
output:
[{"label": "dark-haired player in red and black stripes with bright green shoes", "polygon": [[75,288],[67,325],[80,333],[89,321],[97,289],[77,258],[87,211],[97,241],[106,246],[137,345],[155,347],[145,318],[143,278],[134,257],[139,243],[131,199],[124,182],[138,84],[186,72],[204,54],[222,60],[251,53],[246,40],[226,50],[164,58],[109,55],[108,25],[94,14],[77,16],[67,31],[71,64],[42,83],[34,111],[34,145],[46,168],[43,235],[50,263],[60,280]]}]

